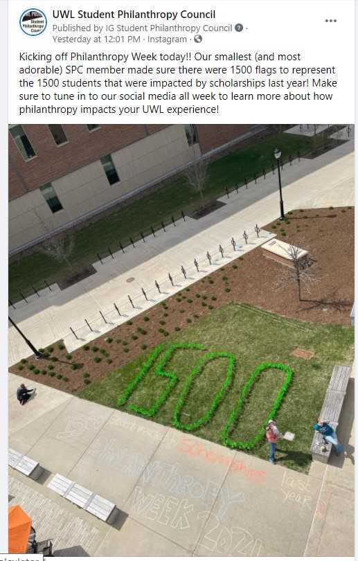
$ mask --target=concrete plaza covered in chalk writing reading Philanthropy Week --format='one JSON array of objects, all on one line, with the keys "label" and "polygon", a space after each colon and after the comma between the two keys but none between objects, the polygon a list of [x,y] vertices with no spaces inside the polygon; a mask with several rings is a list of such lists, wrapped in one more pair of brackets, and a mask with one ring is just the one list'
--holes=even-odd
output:
[{"label": "concrete plaza covered in chalk writing reading Philanthropy Week", "polygon": [[[10,446],[46,470],[36,482],[10,469],[10,503],[55,555],[354,555],[354,380],[339,425],[349,457],[309,475],[42,384],[20,407],[9,380]],[[49,490],[57,472],[114,501],[114,526]]]}]

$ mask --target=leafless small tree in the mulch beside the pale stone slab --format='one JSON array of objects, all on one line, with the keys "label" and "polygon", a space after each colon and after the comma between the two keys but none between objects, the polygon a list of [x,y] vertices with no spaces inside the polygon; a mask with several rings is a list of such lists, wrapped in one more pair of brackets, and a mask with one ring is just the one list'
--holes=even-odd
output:
[{"label": "leafless small tree in the mulch beside the pale stone slab", "polygon": [[296,284],[298,301],[302,301],[303,288],[311,294],[311,287],[321,281],[316,275],[316,261],[309,255],[302,257],[303,250],[296,245],[289,244],[288,249],[284,248],[287,257],[292,262],[292,267],[283,265],[282,274],[277,280],[276,288],[283,290],[290,284]]}]

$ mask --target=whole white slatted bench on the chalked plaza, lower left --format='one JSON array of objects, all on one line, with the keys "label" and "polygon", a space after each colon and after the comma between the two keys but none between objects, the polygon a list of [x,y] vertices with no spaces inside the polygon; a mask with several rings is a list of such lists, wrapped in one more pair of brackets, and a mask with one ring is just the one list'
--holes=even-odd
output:
[{"label": "whole white slatted bench on the chalked plaza, lower left", "polygon": [[108,524],[111,524],[116,515],[114,503],[58,473],[48,483],[48,488]]}]

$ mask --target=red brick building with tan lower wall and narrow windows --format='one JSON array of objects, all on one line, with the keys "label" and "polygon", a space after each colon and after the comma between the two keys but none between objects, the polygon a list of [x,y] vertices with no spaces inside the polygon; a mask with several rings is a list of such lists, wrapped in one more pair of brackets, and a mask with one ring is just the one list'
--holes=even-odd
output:
[{"label": "red brick building with tan lower wall and narrow windows", "polygon": [[252,125],[10,125],[10,253],[251,131]]}]

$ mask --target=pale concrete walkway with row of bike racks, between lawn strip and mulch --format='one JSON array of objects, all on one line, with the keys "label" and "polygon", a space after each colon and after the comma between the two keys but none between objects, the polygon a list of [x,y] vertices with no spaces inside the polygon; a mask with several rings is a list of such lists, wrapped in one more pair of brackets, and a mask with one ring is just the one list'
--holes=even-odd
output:
[{"label": "pale concrete walkway with row of bike racks, between lawn strip and mulch", "polygon": [[[354,204],[354,142],[338,146],[315,159],[295,160],[292,166],[284,166],[283,197],[285,211],[291,208],[323,206],[346,206]],[[277,176],[269,174],[249,187],[240,188],[238,194],[230,198],[222,197],[226,203],[219,210],[201,220],[186,219],[177,226],[168,226],[166,233],[140,242],[135,249],[117,253],[104,260],[104,265],[95,263],[97,274],[69,287],[66,290],[48,291],[40,299],[34,297],[30,303],[10,308],[10,316],[17,321],[33,344],[44,347],[64,338],[70,350],[105,333],[122,321],[157,303],[222,266],[228,260],[244,251],[253,249],[260,242],[254,232],[255,224],[265,225],[278,216]],[[250,233],[249,244],[245,244],[242,233]],[[231,246],[231,238],[238,243],[236,251]],[[219,244],[224,248],[224,258],[220,255]],[[239,247],[239,246],[242,247]],[[206,251],[213,257],[213,265],[208,265]],[[199,262],[199,273],[193,260]],[[184,265],[187,280],[181,273]],[[172,287],[168,272],[174,278]],[[133,279],[129,283],[129,280]],[[154,281],[159,281],[162,295],[158,294]],[[145,301],[141,288],[147,292]],[[135,308],[129,303],[127,294],[132,296]],[[122,317],[114,308],[118,305]],[[100,317],[101,310],[107,321]],[[95,332],[85,326],[84,318],[91,322]],[[78,332],[80,339],[71,334],[70,326]],[[9,330],[9,364],[15,364],[30,355],[30,350],[14,328]]]}]

